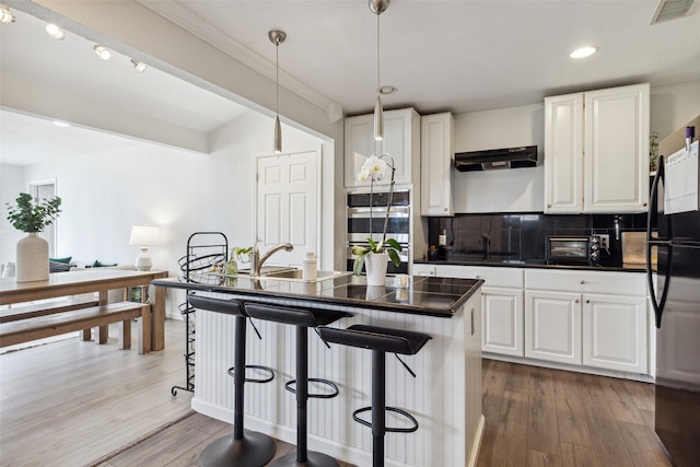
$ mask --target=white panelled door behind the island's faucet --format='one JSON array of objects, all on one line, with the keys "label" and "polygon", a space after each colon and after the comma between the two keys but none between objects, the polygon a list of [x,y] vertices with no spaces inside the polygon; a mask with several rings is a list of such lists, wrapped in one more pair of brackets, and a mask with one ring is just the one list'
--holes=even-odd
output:
[{"label": "white panelled door behind the island's faucet", "polygon": [[293,252],[276,254],[268,265],[301,266],[306,252],[319,254],[317,152],[258,157],[257,229],[260,253],[280,243]]}]

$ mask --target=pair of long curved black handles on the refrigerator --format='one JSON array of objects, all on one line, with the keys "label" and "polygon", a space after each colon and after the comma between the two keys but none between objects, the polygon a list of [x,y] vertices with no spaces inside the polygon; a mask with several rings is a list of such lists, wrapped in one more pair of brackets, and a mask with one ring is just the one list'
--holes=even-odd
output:
[{"label": "pair of long curved black handles on the refrigerator", "polygon": [[[664,178],[664,156],[658,156],[658,170],[654,176],[652,183],[651,197],[649,201],[649,212],[646,214],[646,282],[649,284],[649,295],[652,302],[652,308],[654,310],[654,317],[656,318],[656,328],[661,328],[661,317],[664,313],[664,305],[666,304],[666,296],[668,295],[668,284],[670,283],[670,269],[673,267],[673,245],[668,241],[653,238],[652,237],[652,220],[658,217],[658,180]],[[669,224],[670,227],[670,224]],[[654,271],[652,269],[652,247],[657,248],[667,247],[668,254],[666,255],[666,280],[664,281],[664,289],[661,293],[661,299],[656,301],[656,289],[654,288]]]}]

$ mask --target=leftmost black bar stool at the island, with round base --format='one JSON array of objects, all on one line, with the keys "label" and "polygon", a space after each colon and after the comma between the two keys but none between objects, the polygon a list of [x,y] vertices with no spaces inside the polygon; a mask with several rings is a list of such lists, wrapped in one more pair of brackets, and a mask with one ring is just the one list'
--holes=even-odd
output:
[{"label": "leftmost black bar stool at the island, with round base", "polygon": [[[267,383],[275,378],[272,369],[245,364],[245,310],[241,302],[230,299],[217,299],[203,295],[189,295],[189,303],[200,310],[235,316],[235,342],[233,369],[234,408],[233,437],[223,436],[210,443],[199,455],[201,467],[262,467],[275,456],[275,441],[264,433],[243,429],[244,383]],[[253,367],[269,374],[265,378],[246,378],[246,367]]]}]

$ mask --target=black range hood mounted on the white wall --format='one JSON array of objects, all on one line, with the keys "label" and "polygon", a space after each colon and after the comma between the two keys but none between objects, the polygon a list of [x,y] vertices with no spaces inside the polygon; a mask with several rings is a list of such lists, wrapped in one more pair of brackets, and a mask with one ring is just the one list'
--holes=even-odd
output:
[{"label": "black range hood mounted on the white wall", "polygon": [[457,152],[455,154],[455,168],[459,172],[534,167],[535,165],[537,165],[536,145]]}]

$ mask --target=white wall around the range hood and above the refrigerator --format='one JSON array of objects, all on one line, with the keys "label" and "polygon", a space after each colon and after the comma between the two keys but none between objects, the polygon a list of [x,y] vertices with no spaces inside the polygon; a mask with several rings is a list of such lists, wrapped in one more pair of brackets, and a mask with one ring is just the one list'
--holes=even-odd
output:
[{"label": "white wall around the range hood and above the refrigerator", "polygon": [[[660,141],[700,114],[700,80],[651,89],[650,130]],[[538,147],[537,166],[489,172],[455,171],[455,212],[541,212],[545,110],[542,104],[455,116],[455,152]]]}]

